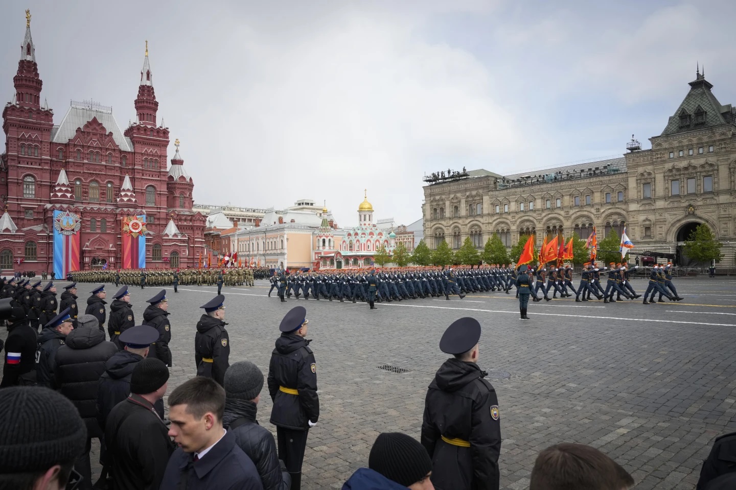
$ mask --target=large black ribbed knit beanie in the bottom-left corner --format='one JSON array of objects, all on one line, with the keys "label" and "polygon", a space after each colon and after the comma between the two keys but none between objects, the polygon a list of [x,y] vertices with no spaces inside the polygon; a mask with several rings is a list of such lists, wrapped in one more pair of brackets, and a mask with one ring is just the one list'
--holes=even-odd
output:
[{"label": "large black ribbed knit beanie in the bottom-left corner", "polygon": [[51,389],[0,389],[0,414],[0,474],[45,472],[85,452],[85,422],[65,396]]}]

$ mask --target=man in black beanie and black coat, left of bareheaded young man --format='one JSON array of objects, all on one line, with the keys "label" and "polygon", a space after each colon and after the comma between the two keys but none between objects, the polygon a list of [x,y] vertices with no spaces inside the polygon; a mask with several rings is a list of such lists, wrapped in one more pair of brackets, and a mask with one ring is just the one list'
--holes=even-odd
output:
[{"label": "man in black beanie and black coat, left of bareheaded young man", "polygon": [[166,394],[169,370],[158,359],[135,364],[130,396],[107,417],[105,440],[111,490],[158,490],[174,444],[153,406]]}]

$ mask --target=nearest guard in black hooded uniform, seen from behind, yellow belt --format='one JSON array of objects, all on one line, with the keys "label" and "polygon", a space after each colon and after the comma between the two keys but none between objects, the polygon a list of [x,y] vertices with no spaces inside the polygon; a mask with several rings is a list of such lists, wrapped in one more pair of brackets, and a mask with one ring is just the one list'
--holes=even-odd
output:
[{"label": "nearest guard in black hooded uniform, seen from behind, yellow belt", "polygon": [[498,490],[500,412],[495,389],[478,367],[481,324],[456,320],[439,348],[452,354],[429,385],[422,423],[422,445],[432,458],[437,490]]}]

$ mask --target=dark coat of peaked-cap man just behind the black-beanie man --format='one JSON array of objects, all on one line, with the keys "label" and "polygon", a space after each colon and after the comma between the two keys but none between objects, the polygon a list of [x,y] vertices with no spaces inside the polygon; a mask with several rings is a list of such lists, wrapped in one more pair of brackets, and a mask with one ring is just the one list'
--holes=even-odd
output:
[{"label": "dark coat of peaked-cap man just behind the black-beanie man", "polygon": [[[120,350],[105,363],[105,372],[99,378],[97,392],[97,422],[105,430],[105,421],[110,411],[130,394],[130,376],[135,364],[143,361],[142,356],[129,350]],[[163,400],[155,405],[156,412],[163,419]]]}]

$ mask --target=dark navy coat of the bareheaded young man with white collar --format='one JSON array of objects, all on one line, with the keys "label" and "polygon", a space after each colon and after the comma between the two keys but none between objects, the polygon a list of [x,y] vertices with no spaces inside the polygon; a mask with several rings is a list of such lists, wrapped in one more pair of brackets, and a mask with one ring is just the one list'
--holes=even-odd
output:
[{"label": "dark navy coat of the bareheaded young man with white collar", "polygon": [[[180,480],[186,483],[180,484]],[[161,490],[262,490],[253,462],[228,431],[199,461],[182,448],[174,451],[163,475]]]}]

